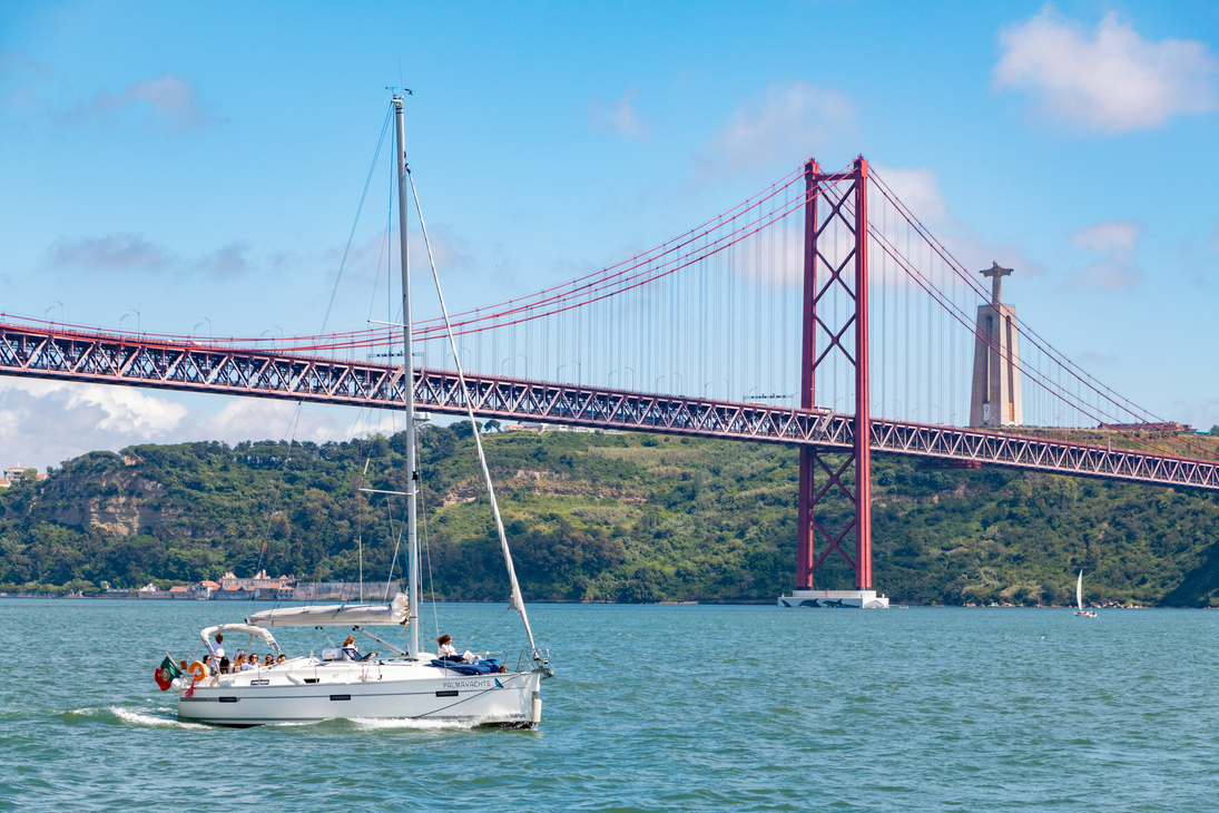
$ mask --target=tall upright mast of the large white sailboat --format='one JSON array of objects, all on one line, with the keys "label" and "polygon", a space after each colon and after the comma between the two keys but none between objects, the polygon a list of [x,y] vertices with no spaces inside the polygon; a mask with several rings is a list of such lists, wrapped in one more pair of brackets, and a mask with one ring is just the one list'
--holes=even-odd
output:
[{"label": "tall upright mast of the large white sailboat", "polygon": [[394,96],[394,130],[397,135],[397,239],[399,262],[402,268],[402,372],[406,375],[406,486],[407,505],[407,581],[410,609],[407,617],[407,651],[412,658],[419,653],[419,536],[417,529],[417,496],[419,472],[414,462],[414,353],[411,351],[411,255],[407,251],[406,228],[406,135],[402,126],[402,96]]}]

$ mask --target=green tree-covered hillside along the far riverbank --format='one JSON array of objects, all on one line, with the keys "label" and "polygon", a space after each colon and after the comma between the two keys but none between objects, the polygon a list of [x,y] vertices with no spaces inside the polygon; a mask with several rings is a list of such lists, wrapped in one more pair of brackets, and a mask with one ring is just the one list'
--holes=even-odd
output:
[{"label": "green tree-covered hillside along the far riverbank", "polygon": [[[484,435],[533,600],[773,601],[794,586],[794,450],[644,434]],[[0,494],[0,590],[250,575],[384,578],[403,507],[403,438],[93,452]],[[506,592],[468,423],[422,431],[424,589]],[[1219,603],[1219,499],[998,468],[873,461],[873,575],[911,603]],[[826,503],[841,525],[848,507]],[[818,586],[848,588],[835,553]]]}]

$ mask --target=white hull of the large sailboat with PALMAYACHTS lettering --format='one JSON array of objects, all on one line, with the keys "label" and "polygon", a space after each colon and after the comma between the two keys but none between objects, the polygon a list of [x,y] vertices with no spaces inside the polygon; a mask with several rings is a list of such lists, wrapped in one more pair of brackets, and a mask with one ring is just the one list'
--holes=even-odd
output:
[{"label": "white hull of the large sailboat with PALMAYACHTS lettering", "polygon": [[461,675],[411,662],[288,666],[207,679],[215,685],[197,684],[178,697],[178,718],[236,726],[375,718],[513,728],[541,718],[541,669]]}]

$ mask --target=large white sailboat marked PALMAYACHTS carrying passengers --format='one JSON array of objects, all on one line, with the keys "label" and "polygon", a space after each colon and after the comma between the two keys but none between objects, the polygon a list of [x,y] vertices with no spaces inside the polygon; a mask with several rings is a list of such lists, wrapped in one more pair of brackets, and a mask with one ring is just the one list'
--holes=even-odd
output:
[{"label": "large white sailboat marked PALMAYACHTS carrying passengers", "polygon": [[[528,647],[514,655],[485,652],[458,659],[441,659],[425,652],[419,642],[419,545],[417,536],[417,495],[419,474],[416,464],[414,434],[414,366],[411,352],[411,295],[407,252],[407,169],[402,126],[402,96],[394,95],[395,133],[397,147],[399,233],[401,241],[402,313],[403,313],[403,373],[407,377],[406,425],[408,469],[407,500],[407,581],[406,594],[399,594],[384,605],[332,605],[283,607],[257,612],[238,624],[221,624],[204,629],[205,651],[211,652],[210,639],[217,634],[249,635],[246,651],[261,640],[283,655],[272,634],[278,627],[345,628],[375,641],[380,651],[361,656],[357,647],[328,647],[319,656],[308,655],[233,674],[216,674],[196,661],[188,670],[179,670],[166,657],[156,678],[162,690],[178,692],[178,718],[199,723],[230,726],[251,726],[271,723],[310,723],[329,718],[374,718],[422,722],[460,722],[475,725],[534,728],[541,720],[540,684],[553,673],[549,667],[550,653],[534,642],[521,586],[512,566],[512,553],[503,534],[491,477],[486,467],[482,440],[474,433],[475,446],[483,464],[495,524],[500,534],[511,585],[510,607],[521,614]],[[412,188],[413,189],[413,188]],[[418,206],[418,196],[416,196]],[[422,215],[421,215],[422,225]],[[424,229],[424,235],[427,230]],[[428,251],[430,256],[430,247]],[[433,263],[434,266],[434,263]],[[435,268],[433,267],[435,275]],[[439,284],[439,283],[438,283]],[[439,291],[439,288],[438,288]],[[440,296],[444,310],[444,296]],[[447,312],[445,312],[447,323]],[[450,330],[450,339],[452,332]],[[458,377],[464,386],[460,353],[455,352]],[[467,405],[472,403],[468,396]],[[473,413],[469,414],[474,423]],[[368,489],[372,491],[371,489]],[[405,648],[369,627],[405,627]],[[384,635],[384,633],[383,633]],[[492,657],[497,655],[499,657]],[[169,674],[169,673],[174,674]],[[180,672],[180,674],[178,674]]]}]

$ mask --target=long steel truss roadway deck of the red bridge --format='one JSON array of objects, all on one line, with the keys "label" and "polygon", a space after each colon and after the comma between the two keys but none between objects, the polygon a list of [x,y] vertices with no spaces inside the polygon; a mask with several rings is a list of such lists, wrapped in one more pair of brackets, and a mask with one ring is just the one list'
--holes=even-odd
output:
[{"label": "long steel truss roadway deck of the red bridge", "polygon": [[[0,375],[401,408],[402,369],[286,352],[0,324]],[[464,414],[453,372],[417,371],[416,403]],[[855,416],[467,375],[482,418],[850,451]],[[1219,490],[1219,463],[1006,433],[872,421],[874,453]]]}]

